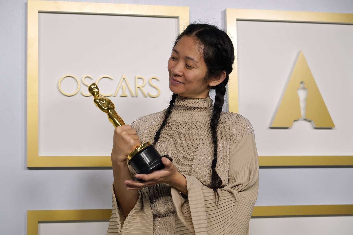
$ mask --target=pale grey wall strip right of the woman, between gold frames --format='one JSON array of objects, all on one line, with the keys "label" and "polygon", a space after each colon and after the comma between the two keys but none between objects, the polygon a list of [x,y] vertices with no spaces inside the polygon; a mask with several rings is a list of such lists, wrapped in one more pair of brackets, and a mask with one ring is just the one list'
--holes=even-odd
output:
[{"label": "pale grey wall strip right of the woman, between gold frames", "polygon": [[353,168],[261,168],[255,206],[353,204]]}]

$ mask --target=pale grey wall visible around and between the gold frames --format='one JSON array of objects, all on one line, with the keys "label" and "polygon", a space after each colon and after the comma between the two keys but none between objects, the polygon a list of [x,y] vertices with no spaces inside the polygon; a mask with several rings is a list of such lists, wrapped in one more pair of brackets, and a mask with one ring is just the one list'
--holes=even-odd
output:
[{"label": "pale grey wall visible around and between the gold frames", "polygon": [[[225,8],[353,13],[352,0],[94,2],[189,6],[191,22],[221,28]],[[0,0],[0,234],[26,234],[27,210],[111,207],[112,170],[26,168],[26,9],[24,0]],[[353,204],[352,178],[353,168],[260,169],[256,205]]]}]

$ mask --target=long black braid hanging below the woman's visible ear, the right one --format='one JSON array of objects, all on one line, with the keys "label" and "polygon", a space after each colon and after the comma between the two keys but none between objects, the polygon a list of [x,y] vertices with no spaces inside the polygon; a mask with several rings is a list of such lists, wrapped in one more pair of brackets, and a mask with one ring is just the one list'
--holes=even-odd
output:
[{"label": "long black braid hanging below the woman's visible ear, the right one", "polygon": [[[227,75],[228,76],[228,75]],[[211,184],[209,185],[210,188],[212,188],[215,193],[217,193],[217,198],[219,200],[219,194],[217,192],[217,188],[221,188],[222,186],[222,180],[219,177],[219,175],[216,172],[216,164],[217,164],[217,150],[218,150],[218,145],[217,145],[217,125],[218,121],[223,109],[223,103],[224,103],[224,95],[226,94],[226,85],[224,82],[221,84],[217,85],[215,87],[216,90],[216,96],[215,96],[215,103],[213,105],[213,113],[211,117],[211,122],[210,122],[210,128],[212,132],[212,140],[213,140],[213,145],[214,145],[214,159],[212,160],[211,168],[212,168],[212,174],[211,174]]]}]

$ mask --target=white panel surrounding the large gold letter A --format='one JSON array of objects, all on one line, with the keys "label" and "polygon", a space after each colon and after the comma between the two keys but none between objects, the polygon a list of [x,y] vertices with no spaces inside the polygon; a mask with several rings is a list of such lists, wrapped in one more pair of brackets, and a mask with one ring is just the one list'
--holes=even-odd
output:
[{"label": "white panel surrounding the large gold letter A", "polygon": [[[237,21],[239,113],[252,123],[259,155],[352,155],[353,25]],[[335,124],[269,129],[302,50]]]}]

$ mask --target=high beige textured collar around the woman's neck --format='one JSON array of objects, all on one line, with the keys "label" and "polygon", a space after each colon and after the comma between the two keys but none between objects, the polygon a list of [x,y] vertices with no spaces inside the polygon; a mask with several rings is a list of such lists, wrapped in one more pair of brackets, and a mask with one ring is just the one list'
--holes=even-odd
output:
[{"label": "high beige textured collar around the woman's neck", "polygon": [[207,98],[187,98],[178,95],[174,102],[171,118],[173,118],[172,116],[184,116],[183,114],[185,114],[188,117],[191,115],[209,119],[212,111],[213,100],[209,96]]}]

